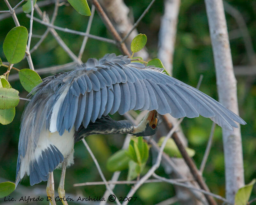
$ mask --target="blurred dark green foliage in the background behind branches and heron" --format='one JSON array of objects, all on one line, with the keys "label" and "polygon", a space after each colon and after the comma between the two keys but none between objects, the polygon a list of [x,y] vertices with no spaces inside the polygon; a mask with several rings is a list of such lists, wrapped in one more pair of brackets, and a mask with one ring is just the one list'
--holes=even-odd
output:
[{"label": "blurred dark green foliage in the background behind branches and heron", "polygon": [[[130,8],[131,16],[134,20],[137,20],[142,12],[146,9],[151,0],[129,1],[125,0],[126,5]],[[10,1],[14,6],[18,3],[18,0]],[[40,2],[38,0],[37,2]],[[238,9],[246,22],[250,36],[253,42],[253,48],[256,49],[256,1],[254,0],[230,0],[229,4]],[[91,4],[90,4],[91,6]],[[8,10],[4,1],[0,2],[1,10]],[[44,11],[47,11],[51,17],[53,12],[53,4],[41,7]],[[6,34],[15,27],[15,24],[11,17],[1,19],[0,14],[0,57],[3,61],[6,61],[2,50],[4,38]],[[160,20],[163,15],[163,1],[156,1],[143,20],[138,26],[139,33],[147,35],[148,42],[146,47],[151,58],[157,56],[157,39]],[[38,15],[35,14],[37,18]],[[29,19],[24,13],[17,15],[20,25],[29,29]],[[248,66],[250,61],[245,50],[244,41],[238,30],[238,25],[233,17],[226,14],[228,31],[232,34],[230,45],[234,66]],[[77,13],[71,6],[60,6],[55,25],[70,28],[78,31],[86,30],[88,17],[82,16]],[[33,23],[33,34],[42,35],[46,27]],[[112,38],[107,31],[103,22],[100,20],[98,14],[95,14],[93,19],[91,34],[102,37]],[[68,45],[68,47],[78,54],[80,45],[83,41],[83,36],[72,35],[58,31],[60,37]],[[38,38],[32,38],[31,48],[38,41]],[[106,53],[121,54],[116,46],[105,42],[89,39],[83,55],[83,62],[88,58],[100,58]],[[51,34],[47,36],[41,46],[32,53],[32,60],[35,68],[49,67],[53,65],[60,65],[71,62],[72,59],[66,54],[65,51],[59,46],[56,40]],[[255,65],[254,65],[255,66]],[[28,68],[26,60],[21,61],[15,67],[22,69]],[[6,69],[0,68],[0,75],[2,75]],[[11,71],[11,74],[15,74],[15,70]],[[255,72],[254,72],[255,73]],[[189,85],[196,86],[199,75],[204,75],[203,82],[200,90],[218,99],[216,92],[216,79],[215,70],[212,55],[211,39],[209,36],[207,16],[205,11],[205,5],[203,0],[182,0],[180,6],[180,14],[178,20],[178,31],[175,46],[175,53],[173,58],[173,76],[179,80],[188,83]],[[41,75],[42,78],[51,75]],[[237,88],[238,88],[238,100],[239,100],[239,112],[240,116],[247,122],[246,126],[241,127],[242,140],[243,140],[243,154],[244,154],[244,175],[245,183],[249,183],[256,177],[256,83],[255,75],[248,76],[236,76]],[[250,79],[250,80],[249,80]],[[12,81],[13,88],[20,91],[20,97],[25,98],[28,94],[21,86],[19,81]],[[25,106],[25,101],[20,100],[19,105],[16,107],[16,115],[13,122],[9,125],[0,125],[0,177],[1,181],[8,179],[12,182],[15,181],[16,173],[16,160],[18,155],[18,140],[20,133],[20,118]],[[118,114],[114,115],[115,119],[122,119],[122,116]],[[212,121],[203,117],[195,119],[185,118],[182,122],[182,128],[186,137],[188,138],[189,147],[196,151],[193,159],[197,166],[200,166],[201,160],[204,155],[207,140],[210,134]],[[112,176],[112,173],[106,169],[106,160],[114,152],[121,149],[124,141],[124,136],[89,136],[86,138],[89,146],[95,154],[100,167],[107,180]],[[152,165],[152,155],[150,154],[147,166]],[[157,173],[165,176],[164,169],[160,167]],[[207,185],[210,187],[213,193],[225,196],[225,174],[224,174],[224,156],[223,146],[221,138],[221,129],[216,127],[213,146],[210,156],[208,158],[205,170],[204,178]],[[119,180],[125,180],[127,177],[127,170],[122,171]],[[55,187],[58,186],[60,179],[60,170],[54,171]],[[84,194],[84,196],[102,196],[105,191],[104,185],[97,186],[84,186],[73,187],[74,183],[102,181],[96,166],[94,165],[90,155],[85,149],[82,142],[75,145],[75,164],[67,170],[65,190],[66,193]],[[22,180],[22,185],[27,186],[29,189],[36,187],[45,188],[46,182],[42,182],[39,185],[29,186],[28,177]],[[116,185],[115,193],[117,196],[126,196],[132,185]],[[166,183],[151,183],[144,184],[140,187],[138,192],[134,195],[137,196],[137,200],[132,204],[155,204],[159,201],[168,199],[174,196],[174,189],[172,185]],[[256,197],[256,187],[252,191],[252,198]],[[0,203],[3,199],[0,200]],[[33,202],[33,204],[36,204]],[[40,202],[38,204],[48,204],[48,202]],[[177,202],[176,204],[179,204]]]}]

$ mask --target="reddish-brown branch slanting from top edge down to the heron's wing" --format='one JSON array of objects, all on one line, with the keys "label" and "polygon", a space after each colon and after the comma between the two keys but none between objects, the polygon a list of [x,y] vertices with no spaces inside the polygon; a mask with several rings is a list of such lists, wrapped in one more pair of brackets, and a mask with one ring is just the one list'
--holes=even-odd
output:
[{"label": "reddish-brown branch slanting from top edge down to the heron's wing", "polygon": [[95,8],[96,8],[98,14],[100,15],[101,19],[105,23],[105,26],[108,28],[108,30],[113,35],[113,37],[116,39],[116,41],[120,44],[121,51],[124,53],[124,55],[127,55],[128,57],[130,57],[131,56],[130,52],[128,51],[126,45],[123,42],[121,42],[122,38],[117,33],[117,31],[116,31],[115,27],[113,26],[113,24],[111,23],[111,21],[108,19],[108,16],[103,11],[99,2],[97,0],[92,0],[92,3],[95,5]]}]

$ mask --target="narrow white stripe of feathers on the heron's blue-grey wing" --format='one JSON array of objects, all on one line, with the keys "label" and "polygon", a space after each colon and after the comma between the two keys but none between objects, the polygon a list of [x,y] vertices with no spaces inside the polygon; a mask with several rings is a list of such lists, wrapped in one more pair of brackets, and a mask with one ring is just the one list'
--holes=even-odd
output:
[{"label": "narrow white stripe of feathers on the heron's blue-grey wing", "polygon": [[59,99],[56,101],[56,103],[53,106],[52,109],[52,116],[50,121],[50,132],[56,132],[57,131],[57,117],[60,110],[60,106],[62,105],[67,93],[69,90],[69,86],[63,91],[63,93],[60,95]]}]

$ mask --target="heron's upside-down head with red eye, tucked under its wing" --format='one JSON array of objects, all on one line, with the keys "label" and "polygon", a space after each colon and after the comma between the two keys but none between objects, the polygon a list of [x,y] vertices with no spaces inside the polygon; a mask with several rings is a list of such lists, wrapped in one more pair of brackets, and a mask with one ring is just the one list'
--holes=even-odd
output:
[{"label": "heron's upside-down head with red eye, tucked under its wing", "polygon": [[140,124],[134,127],[132,132],[136,136],[151,136],[156,133],[158,129],[159,121],[156,110],[149,111]]}]

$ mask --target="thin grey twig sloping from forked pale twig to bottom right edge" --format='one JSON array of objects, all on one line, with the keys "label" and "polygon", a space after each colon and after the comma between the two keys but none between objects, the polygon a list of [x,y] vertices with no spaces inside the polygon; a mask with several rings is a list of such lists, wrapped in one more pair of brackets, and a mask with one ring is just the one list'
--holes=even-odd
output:
[{"label": "thin grey twig sloping from forked pale twig to bottom right edge", "polygon": [[155,177],[155,178],[157,178],[157,179],[161,179],[161,180],[163,180],[163,181],[165,181],[165,182],[168,182],[168,183],[170,183],[170,184],[173,184],[173,185],[183,186],[183,187],[186,187],[186,188],[188,188],[188,189],[193,189],[193,190],[196,190],[196,191],[198,191],[198,192],[202,192],[202,193],[204,193],[204,194],[206,194],[206,195],[213,196],[213,197],[215,197],[216,199],[219,199],[219,200],[221,200],[221,201],[225,201],[226,203],[228,203],[228,204],[230,204],[230,205],[234,205],[234,204],[232,204],[231,202],[227,201],[225,198],[223,198],[223,197],[220,196],[220,195],[217,195],[217,194],[214,194],[214,193],[211,193],[211,192],[207,192],[207,191],[205,191],[205,190],[203,190],[203,189],[197,189],[197,188],[195,188],[194,186],[189,186],[189,185],[186,185],[186,184],[184,184],[184,183],[176,182],[176,181],[173,180],[173,179],[167,179],[167,178],[164,178],[164,177],[160,177],[160,176],[156,175],[155,173],[153,173],[152,176]]}]

